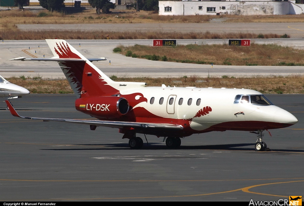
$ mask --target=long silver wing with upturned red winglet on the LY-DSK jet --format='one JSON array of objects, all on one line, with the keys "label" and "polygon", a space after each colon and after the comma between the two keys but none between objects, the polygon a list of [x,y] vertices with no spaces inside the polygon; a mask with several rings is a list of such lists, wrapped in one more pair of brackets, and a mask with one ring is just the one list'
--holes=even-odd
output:
[{"label": "long silver wing with upturned red winglet on the LY-DSK jet", "polygon": [[78,124],[85,124],[85,125],[95,125],[101,127],[111,127],[111,128],[125,128],[125,127],[132,127],[137,129],[144,129],[144,128],[158,128],[158,129],[176,129],[182,130],[183,127],[181,125],[173,125],[173,124],[157,124],[157,123],[146,123],[146,122],[125,122],[125,121],[101,121],[101,120],[80,120],[80,119],[56,119],[56,118],[37,118],[37,117],[22,117],[20,116],[12,104],[5,100],[9,111],[15,117],[25,118],[25,119],[35,119],[35,120],[42,120],[42,121],[64,121],[64,122],[71,122],[71,123],[78,123]]}]

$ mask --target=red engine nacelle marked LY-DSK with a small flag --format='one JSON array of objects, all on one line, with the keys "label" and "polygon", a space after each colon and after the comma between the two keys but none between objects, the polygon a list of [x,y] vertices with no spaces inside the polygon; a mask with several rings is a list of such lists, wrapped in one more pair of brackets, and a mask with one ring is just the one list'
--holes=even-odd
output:
[{"label": "red engine nacelle marked LY-DSK with a small flag", "polygon": [[75,108],[94,117],[114,119],[129,111],[129,102],[117,96],[83,97],[76,99]]}]

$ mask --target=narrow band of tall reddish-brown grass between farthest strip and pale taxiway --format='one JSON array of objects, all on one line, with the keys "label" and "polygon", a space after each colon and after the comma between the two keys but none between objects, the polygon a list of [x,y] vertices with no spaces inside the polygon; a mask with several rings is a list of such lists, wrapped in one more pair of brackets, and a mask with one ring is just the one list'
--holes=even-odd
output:
[{"label": "narrow band of tall reddish-brown grass between farthest strip and pale taxiway", "polygon": [[[16,27],[0,30],[0,40],[43,40],[59,39],[226,39],[258,38],[252,33],[210,33],[210,32],[105,32],[105,31],[19,31]],[[265,38],[280,38],[281,35],[265,34]]]}]

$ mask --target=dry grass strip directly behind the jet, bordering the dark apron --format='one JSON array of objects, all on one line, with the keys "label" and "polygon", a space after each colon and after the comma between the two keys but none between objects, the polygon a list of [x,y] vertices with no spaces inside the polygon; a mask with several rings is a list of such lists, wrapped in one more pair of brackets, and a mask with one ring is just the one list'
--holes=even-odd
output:
[{"label": "dry grass strip directly behind the jet, bordering the dark apron", "polygon": [[[27,88],[31,93],[65,94],[73,93],[66,79],[26,79],[7,78],[8,81]],[[200,81],[203,80],[203,81]],[[223,76],[222,78],[202,78],[199,76],[184,76],[180,78],[116,78],[116,81],[146,82],[148,86],[161,86],[161,84],[177,87],[214,87],[214,88],[247,88],[266,94],[303,94],[304,76],[270,76],[254,78],[234,78]],[[181,83],[176,83],[176,81]]]}]

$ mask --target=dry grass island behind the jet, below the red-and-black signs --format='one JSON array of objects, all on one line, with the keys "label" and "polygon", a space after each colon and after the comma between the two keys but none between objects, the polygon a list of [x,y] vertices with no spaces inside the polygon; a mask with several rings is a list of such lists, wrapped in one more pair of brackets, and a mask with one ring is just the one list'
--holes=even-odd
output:
[{"label": "dry grass island behind the jet, below the red-and-black signs", "polygon": [[[178,45],[176,47],[152,47],[135,45],[122,48],[122,54],[128,51],[138,57],[145,55],[166,56],[167,61],[215,65],[304,65],[304,51],[279,45],[258,45],[250,47],[223,45]],[[129,52],[130,53],[130,52]]]}]

